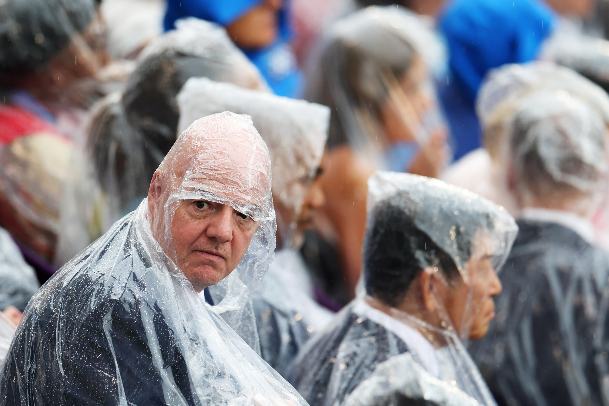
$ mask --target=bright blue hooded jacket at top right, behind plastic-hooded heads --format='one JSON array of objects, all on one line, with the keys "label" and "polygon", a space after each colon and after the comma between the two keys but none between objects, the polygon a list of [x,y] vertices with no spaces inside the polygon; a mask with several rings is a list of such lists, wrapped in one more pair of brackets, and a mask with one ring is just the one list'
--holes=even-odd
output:
[{"label": "bright blue hooded jacket at top right, behind plastic-hooded heads", "polygon": [[455,158],[480,147],[474,108],[485,75],[506,63],[537,58],[556,15],[541,0],[453,0],[440,18],[450,77],[440,99],[456,142]]}]

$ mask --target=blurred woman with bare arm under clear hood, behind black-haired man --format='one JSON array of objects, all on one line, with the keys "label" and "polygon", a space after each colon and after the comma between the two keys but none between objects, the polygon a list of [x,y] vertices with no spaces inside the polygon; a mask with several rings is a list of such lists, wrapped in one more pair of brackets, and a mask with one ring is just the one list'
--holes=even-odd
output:
[{"label": "blurred woman with bare arm under clear hood, behind black-haired man", "polygon": [[[308,100],[331,108],[326,206],[303,253],[344,305],[361,271],[367,179],[375,169],[437,177],[448,162],[431,71],[443,60],[434,33],[409,11],[368,7],[322,38]],[[338,285],[338,287],[337,287]]]}]

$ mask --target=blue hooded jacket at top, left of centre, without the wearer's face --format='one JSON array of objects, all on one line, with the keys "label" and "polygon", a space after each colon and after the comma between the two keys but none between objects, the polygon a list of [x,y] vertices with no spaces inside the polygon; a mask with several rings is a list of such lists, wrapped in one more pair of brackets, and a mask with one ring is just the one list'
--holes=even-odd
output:
[{"label": "blue hooded jacket at top, left of centre, without the wearer's face", "polygon": [[[259,5],[264,0],[167,0],[164,29],[174,29],[177,19],[196,17],[227,27],[233,21]],[[243,50],[260,70],[273,92],[279,96],[298,97],[303,76],[298,69],[294,52],[288,41],[291,37],[289,16],[280,11],[279,38],[262,49]]]}]

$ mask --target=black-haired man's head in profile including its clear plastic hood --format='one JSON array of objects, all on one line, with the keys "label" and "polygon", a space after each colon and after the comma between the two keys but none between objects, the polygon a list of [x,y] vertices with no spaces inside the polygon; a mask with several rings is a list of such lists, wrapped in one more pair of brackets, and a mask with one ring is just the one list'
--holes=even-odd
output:
[{"label": "black-haired man's head in profile including its clear plastic hood", "polygon": [[481,338],[518,232],[507,211],[442,181],[392,172],[370,178],[368,203],[368,295],[463,339]]}]

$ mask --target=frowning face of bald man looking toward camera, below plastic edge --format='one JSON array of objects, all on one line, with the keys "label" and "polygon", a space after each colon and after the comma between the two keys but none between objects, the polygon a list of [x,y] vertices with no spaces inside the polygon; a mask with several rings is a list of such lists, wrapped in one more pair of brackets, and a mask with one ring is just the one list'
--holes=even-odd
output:
[{"label": "frowning face of bald man looking toward camera, below plastic edge", "polygon": [[171,223],[177,265],[201,292],[237,267],[258,222],[231,206],[206,200],[181,200]]}]

